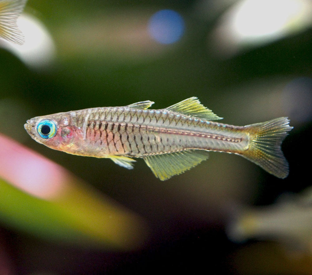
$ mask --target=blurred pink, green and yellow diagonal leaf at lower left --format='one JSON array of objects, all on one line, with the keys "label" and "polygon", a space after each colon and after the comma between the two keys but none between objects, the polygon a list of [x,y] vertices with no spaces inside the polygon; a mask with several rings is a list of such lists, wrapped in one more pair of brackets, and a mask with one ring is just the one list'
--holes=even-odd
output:
[{"label": "blurred pink, green and yellow diagonal leaf at lower left", "polygon": [[0,220],[39,237],[118,249],[135,249],[147,237],[138,215],[1,134],[0,190]]}]

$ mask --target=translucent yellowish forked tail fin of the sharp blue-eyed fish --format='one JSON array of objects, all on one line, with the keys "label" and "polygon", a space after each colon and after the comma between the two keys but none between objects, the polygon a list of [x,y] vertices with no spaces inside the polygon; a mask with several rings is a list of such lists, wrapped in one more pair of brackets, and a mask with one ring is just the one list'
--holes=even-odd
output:
[{"label": "translucent yellowish forked tail fin of the sharp blue-eyed fish", "polygon": [[244,131],[249,136],[248,149],[239,154],[270,174],[284,179],[288,176],[289,165],[281,144],[292,128],[287,117],[246,125]]}]

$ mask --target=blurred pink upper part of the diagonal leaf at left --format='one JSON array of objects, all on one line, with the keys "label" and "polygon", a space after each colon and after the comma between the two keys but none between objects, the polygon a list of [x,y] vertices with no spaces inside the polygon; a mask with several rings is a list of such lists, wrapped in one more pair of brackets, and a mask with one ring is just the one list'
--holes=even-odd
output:
[{"label": "blurred pink upper part of the diagonal leaf at left", "polygon": [[60,165],[0,134],[0,177],[41,199],[61,193],[68,172]]}]

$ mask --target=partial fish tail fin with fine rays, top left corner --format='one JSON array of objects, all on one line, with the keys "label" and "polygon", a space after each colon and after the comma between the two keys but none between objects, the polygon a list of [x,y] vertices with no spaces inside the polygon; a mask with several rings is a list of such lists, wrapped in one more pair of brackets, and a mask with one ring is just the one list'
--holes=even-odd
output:
[{"label": "partial fish tail fin with fine rays, top left corner", "polygon": [[17,27],[17,18],[21,15],[27,0],[0,0],[0,38],[23,45],[24,35]]}]

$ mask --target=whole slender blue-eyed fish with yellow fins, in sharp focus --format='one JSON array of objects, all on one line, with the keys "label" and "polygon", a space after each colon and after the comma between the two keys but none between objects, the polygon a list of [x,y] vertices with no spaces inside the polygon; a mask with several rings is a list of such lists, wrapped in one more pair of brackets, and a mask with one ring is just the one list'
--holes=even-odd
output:
[{"label": "whole slender blue-eyed fish with yellow fins, in sharp focus", "polygon": [[160,180],[207,160],[208,151],[241,155],[284,179],[289,165],[281,143],[293,128],[287,117],[246,126],[222,124],[197,97],[164,109],[153,101],[37,116],[24,125],[37,142],[73,155],[110,158],[133,168],[143,158]]}]

